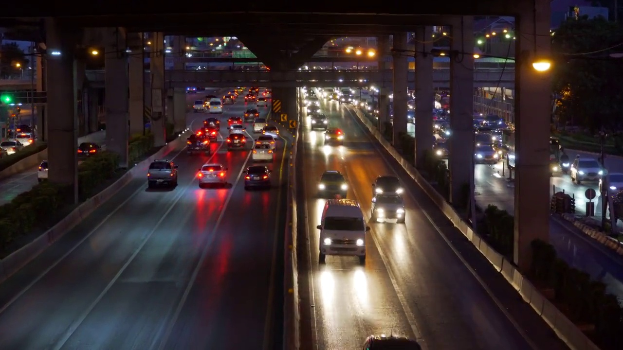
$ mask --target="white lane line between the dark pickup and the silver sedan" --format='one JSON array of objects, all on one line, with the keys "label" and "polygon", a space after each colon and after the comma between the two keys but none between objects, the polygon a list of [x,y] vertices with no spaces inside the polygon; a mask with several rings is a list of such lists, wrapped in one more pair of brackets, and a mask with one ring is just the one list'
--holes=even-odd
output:
[{"label": "white lane line between the dark pickup and the silver sedan", "polygon": [[[221,144],[221,146],[219,146],[219,148],[221,148],[221,147],[222,147],[222,144]],[[184,149],[183,149],[183,151],[184,151]],[[214,158],[214,156],[216,156],[216,154],[217,154],[216,152],[212,153],[210,158],[207,159],[207,162],[209,163],[212,160],[212,158]],[[195,174],[193,176],[193,179],[191,179],[191,181],[189,181],[188,187],[186,189],[183,189],[182,191],[179,191],[176,194],[176,196],[174,197],[173,203],[171,203],[169,205],[168,209],[160,217],[158,222],[156,222],[156,225],[153,227],[153,229],[151,229],[150,232],[143,238],[143,240],[141,240],[141,244],[138,245],[138,247],[134,250],[132,255],[130,255],[130,258],[128,258],[128,260],[126,260],[126,262],[123,264],[123,266],[120,268],[120,270],[118,270],[118,272],[115,275],[115,277],[113,277],[112,280],[110,280],[108,282],[108,285],[104,288],[102,293],[100,293],[100,295],[98,295],[97,298],[95,298],[95,300],[93,300],[91,305],[88,306],[87,310],[83,311],[83,313],[80,315],[80,317],[76,321],[72,322],[72,324],[70,324],[69,329],[67,329],[67,331],[65,331],[65,333],[62,336],[62,338],[59,341],[57,341],[57,343],[54,345],[54,348],[52,348],[52,349],[60,350],[63,346],[65,346],[65,343],[67,343],[69,338],[71,338],[71,336],[74,335],[75,331],[78,329],[78,327],[80,327],[80,324],[82,324],[84,322],[84,320],[87,319],[87,317],[91,313],[91,311],[93,311],[93,309],[95,309],[95,306],[97,306],[98,303],[100,303],[100,301],[104,298],[104,296],[107,295],[107,293],[110,290],[110,288],[112,288],[113,285],[115,285],[115,283],[117,283],[117,280],[121,277],[123,272],[125,272],[126,268],[128,268],[130,266],[130,264],[134,261],[136,256],[138,256],[138,254],[141,252],[141,250],[143,250],[143,247],[145,247],[147,242],[151,239],[151,236],[153,236],[153,234],[155,234],[155,232],[160,228],[160,225],[164,222],[164,219],[166,219],[168,217],[169,213],[178,204],[179,200],[182,199],[182,197],[184,197],[184,194],[186,194],[186,192],[189,190],[190,186],[192,186],[192,184],[193,184],[193,182],[195,181],[196,178],[197,178],[197,174]],[[143,187],[141,187],[141,188],[143,188]]]}]

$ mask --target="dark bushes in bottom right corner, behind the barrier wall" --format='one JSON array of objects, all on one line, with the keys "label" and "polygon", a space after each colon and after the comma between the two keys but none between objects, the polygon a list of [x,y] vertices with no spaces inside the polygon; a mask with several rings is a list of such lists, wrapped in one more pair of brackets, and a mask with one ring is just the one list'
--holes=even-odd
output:
[{"label": "dark bushes in bottom right corner, behind the barrier wall", "polygon": [[576,324],[592,324],[587,335],[601,349],[623,349],[623,308],[616,296],[606,293],[606,285],[569,265],[556,255],[553,245],[543,240],[531,242],[531,277],[554,290],[554,300]]}]

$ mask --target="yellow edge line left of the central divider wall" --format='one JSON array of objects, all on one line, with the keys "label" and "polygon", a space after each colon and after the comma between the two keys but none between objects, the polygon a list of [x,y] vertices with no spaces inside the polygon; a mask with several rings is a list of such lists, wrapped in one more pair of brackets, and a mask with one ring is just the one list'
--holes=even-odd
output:
[{"label": "yellow edge line left of the central divider wall", "polygon": [[[279,135],[283,140],[283,154],[281,157],[281,164],[279,166],[279,189],[277,192],[277,215],[275,215],[275,234],[273,235],[273,253],[272,258],[270,260],[270,278],[269,278],[269,296],[268,302],[266,303],[266,317],[264,319],[264,342],[262,343],[262,350],[270,350],[270,336],[269,333],[272,329],[272,308],[273,308],[273,300],[275,298],[275,267],[277,266],[277,244],[279,240],[277,239],[279,235],[279,220],[281,218],[281,211],[278,210],[281,207],[281,196],[283,194],[282,187],[282,179],[283,179],[283,163],[285,161],[285,153],[288,149],[288,140]],[[295,139],[296,142],[296,139]],[[290,164],[288,157],[288,164]],[[288,225],[286,222],[285,225]],[[284,267],[285,268],[285,267]]]}]

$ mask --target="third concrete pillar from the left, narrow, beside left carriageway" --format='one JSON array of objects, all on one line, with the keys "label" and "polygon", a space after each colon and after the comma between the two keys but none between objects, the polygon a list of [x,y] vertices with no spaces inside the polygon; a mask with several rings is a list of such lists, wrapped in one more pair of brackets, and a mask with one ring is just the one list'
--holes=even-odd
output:
[{"label": "third concrete pillar from the left, narrow, beside left carriageway", "polygon": [[130,119],[130,135],[143,135],[145,131],[145,67],[142,47],[132,50],[129,57],[128,79],[130,82],[130,106],[128,108]]}]

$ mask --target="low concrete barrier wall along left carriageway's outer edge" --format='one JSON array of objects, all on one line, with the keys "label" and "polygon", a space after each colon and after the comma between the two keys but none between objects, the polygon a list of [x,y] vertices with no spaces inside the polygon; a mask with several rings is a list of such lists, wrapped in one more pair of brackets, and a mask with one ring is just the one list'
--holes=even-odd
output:
[{"label": "low concrete barrier wall along left carriageway's outer edge", "polygon": [[[54,244],[54,242],[59,240],[60,237],[69,232],[69,230],[73,229],[83,219],[86,219],[88,215],[93,212],[93,210],[108,201],[108,199],[114,196],[126,184],[130,183],[132,179],[145,176],[150,163],[154,159],[163,158],[167,154],[171,153],[173,149],[178,148],[183,141],[184,137],[179,137],[171,143],[166,144],[166,146],[159,149],[159,151],[153,154],[153,156],[150,156],[150,158],[136,164],[132,169],[130,169],[130,171],[123,174],[123,176],[121,176],[112,185],[108,186],[106,189],[103,189],[102,192],[99,192],[95,196],[87,199],[87,201],[82,202],[82,204],[74,209],[69,215],[60,220],[60,222],[54,225],[54,227],[44,232],[44,234],[41,234],[29,244],[24,245],[24,247],[19,248],[19,250],[16,250],[4,259],[0,260],[0,282],[11,277],[11,275],[19,271],[19,269],[24,267],[24,265],[31,262],[31,260],[36,258],[37,255],[45,250],[45,248]],[[47,153],[47,151],[44,152]],[[45,154],[45,156],[47,156],[47,154]]]}]

